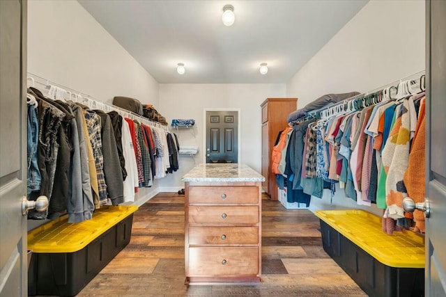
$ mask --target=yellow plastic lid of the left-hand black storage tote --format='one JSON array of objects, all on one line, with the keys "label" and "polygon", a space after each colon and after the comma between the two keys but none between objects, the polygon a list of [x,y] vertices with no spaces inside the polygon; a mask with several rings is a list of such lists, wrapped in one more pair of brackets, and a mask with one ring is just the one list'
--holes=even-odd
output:
[{"label": "yellow plastic lid of the left-hand black storage tote", "polygon": [[106,205],[82,223],[68,223],[68,215],[61,216],[28,232],[28,250],[77,252],[137,210],[136,206]]}]

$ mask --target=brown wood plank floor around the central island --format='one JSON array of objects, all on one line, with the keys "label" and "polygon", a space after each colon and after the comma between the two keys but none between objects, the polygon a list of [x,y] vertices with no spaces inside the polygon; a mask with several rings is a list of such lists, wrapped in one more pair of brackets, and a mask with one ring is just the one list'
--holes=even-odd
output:
[{"label": "brown wood plank floor around the central island", "polygon": [[367,296],[325,253],[318,218],[262,197],[262,284],[186,286],[184,195],[134,214],[132,239],[78,296]]}]

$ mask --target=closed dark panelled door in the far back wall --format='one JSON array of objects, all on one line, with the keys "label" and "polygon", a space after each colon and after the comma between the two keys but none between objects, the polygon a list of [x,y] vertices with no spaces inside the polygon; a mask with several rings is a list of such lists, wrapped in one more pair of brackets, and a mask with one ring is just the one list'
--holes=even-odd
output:
[{"label": "closed dark panelled door in the far back wall", "polygon": [[238,162],[238,112],[206,111],[206,163]]}]

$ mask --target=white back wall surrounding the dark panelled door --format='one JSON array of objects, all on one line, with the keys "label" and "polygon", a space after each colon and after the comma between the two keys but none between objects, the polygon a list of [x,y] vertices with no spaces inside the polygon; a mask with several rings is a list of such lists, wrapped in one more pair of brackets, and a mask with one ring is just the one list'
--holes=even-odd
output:
[{"label": "white back wall surrounding the dark panelled door", "polygon": [[[203,110],[240,109],[241,162],[261,172],[261,109],[267,97],[284,97],[284,83],[160,83],[160,109],[167,120],[192,118],[194,132],[178,131],[180,145],[198,145],[196,161],[203,161]],[[175,131],[176,133],[176,131]],[[163,191],[169,187],[183,188],[181,177],[194,166],[192,159],[180,157],[180,170],[160,180]]]}]

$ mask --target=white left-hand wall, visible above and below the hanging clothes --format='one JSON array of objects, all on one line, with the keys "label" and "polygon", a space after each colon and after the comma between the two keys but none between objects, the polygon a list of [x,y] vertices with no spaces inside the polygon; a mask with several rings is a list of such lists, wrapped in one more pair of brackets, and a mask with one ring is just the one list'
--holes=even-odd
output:
[{"label": "white left-hand wall, visible above and below the hanging clothes", "polygon": [[[77,1],[28,1],[28,72],[106,102],[158,101],[158,83]],[[135,204],[157,193],[141,188]]]}]

